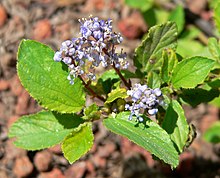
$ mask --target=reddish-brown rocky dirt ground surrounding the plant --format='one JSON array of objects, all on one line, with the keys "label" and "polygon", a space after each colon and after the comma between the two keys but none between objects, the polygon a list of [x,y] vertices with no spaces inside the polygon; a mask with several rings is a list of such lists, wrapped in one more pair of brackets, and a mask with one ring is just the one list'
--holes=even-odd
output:
[{"label": "reddish-brown rocky dirt ground surrounding the plant", "polygon": [[174,171],[107,131],[101,122],[93,128],[93,148],[73,165],[59,146],[31,152],[13,145],[7,136],[10,125],[41,109],[16,74],[19,42],[35,39],[56,50],[62,41],[79,35],[78,19],[90,14],[113,19],[114,31],[120,31],[125,39],[121,47],[131,57],[147,25],[123,0],[0,0],[0,178],[220,178],[220,145],[202,139],[204,131],[219,120],[220,112],[206,104],[185,106],[188,122],[197,128],[197,138],[180,156]]}]

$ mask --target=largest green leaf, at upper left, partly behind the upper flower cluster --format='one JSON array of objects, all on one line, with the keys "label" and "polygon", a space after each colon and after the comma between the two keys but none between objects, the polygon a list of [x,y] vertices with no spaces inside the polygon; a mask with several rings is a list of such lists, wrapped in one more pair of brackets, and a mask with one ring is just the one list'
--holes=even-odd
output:
[{"label": "largest green leaf, at upper left, partly behind the upper flower cluster", "polygon": [[33,40],[22,40],[18,50],[17,70],[21,83],[40,105],[61,113],[82,109],[85,94],[79,79],[67,80],[68,71],[53,60],[54,51]]}]

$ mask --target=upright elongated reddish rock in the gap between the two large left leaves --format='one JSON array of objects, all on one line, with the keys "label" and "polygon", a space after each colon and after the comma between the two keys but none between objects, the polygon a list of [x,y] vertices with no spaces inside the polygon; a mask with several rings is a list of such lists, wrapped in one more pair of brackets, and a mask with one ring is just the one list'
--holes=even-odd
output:
[{"label": "upright elongated reddish rock in the gap between the two large left leaves", "polygon": [[21,95],[18,97],[17,105],[15,107],[15,113],[17,115],[27,114],[28,103],[30,96],[26,90],[23,90]]}]

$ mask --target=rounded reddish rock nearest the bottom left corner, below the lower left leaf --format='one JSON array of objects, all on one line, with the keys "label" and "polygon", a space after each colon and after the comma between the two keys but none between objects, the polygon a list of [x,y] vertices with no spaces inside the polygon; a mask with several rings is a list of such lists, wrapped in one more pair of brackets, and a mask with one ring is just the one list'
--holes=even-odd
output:
[{"label": "rounded reddish rock nearest the bottom left corner, below the lower left leaf", "polygon": [[27,156],[19,157],[15,160],[13,172],[17,177],[27,177],[34,167]]}]

